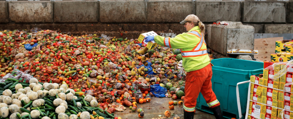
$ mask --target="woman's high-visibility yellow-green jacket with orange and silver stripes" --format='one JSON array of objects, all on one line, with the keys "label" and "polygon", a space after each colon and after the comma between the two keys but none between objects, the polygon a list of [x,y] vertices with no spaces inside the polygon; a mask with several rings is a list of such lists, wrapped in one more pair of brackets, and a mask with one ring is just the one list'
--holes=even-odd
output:
[{"label": "woman's high-visibility yellow-green jacket with orange and silver stripes", "polygon": [[210,63],[204,34],[200,32],[199,26],[173,38],[157,35],[154,40],[161,46],[181,49],[182,65],[186,72],[202,69]]}]

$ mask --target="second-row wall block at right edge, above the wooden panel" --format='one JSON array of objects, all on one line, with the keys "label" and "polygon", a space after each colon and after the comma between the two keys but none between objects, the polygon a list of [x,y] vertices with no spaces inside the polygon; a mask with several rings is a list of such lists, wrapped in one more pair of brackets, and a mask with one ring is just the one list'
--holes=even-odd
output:
[{"label": "second-row wall block at right edge, above the wooden panel", "polygon": [[293,24],[265,24],[264,33],[293,33]]}]

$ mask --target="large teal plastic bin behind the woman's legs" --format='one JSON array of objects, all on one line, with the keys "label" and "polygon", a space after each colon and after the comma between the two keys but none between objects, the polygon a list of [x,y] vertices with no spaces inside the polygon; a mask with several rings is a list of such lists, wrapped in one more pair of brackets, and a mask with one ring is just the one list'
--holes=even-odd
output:
[{"label": "large teal plastic bin behind the woman's legs", "polygon": [[[212,60],[212,88],[220,102],[224,118],[239,118],[236,85],[238,82],[250,80],[251,75],[258,76],[263,73],[263,62],[239,60],[233,58],[221,58]],[[239,97],[242,116],[245,116],[248,85],[239,85]],[[208,107],[205,98],[199,94],[196,108],[213,114]]]}]

